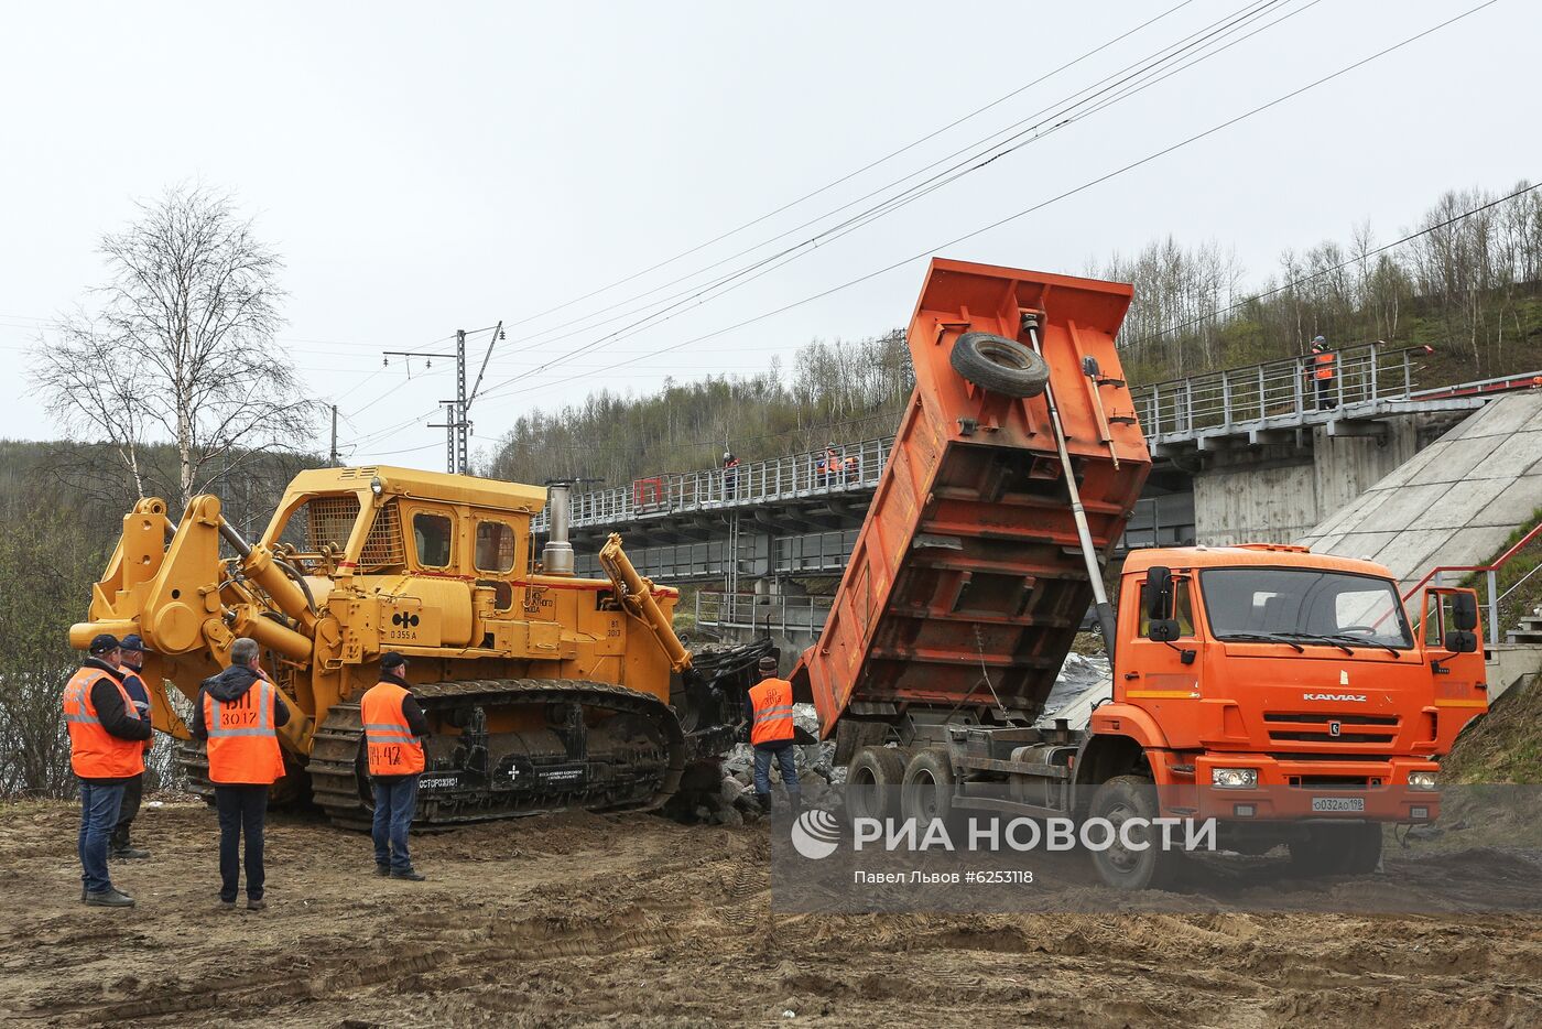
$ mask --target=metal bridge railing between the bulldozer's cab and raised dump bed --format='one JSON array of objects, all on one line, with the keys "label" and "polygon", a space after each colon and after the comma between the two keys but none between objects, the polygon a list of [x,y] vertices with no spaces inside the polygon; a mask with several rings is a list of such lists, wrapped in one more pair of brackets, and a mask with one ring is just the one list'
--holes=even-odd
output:
[{"label": "metal bridge railing between the bulldozer's cab and raised dump bed", "polygon": [[[669,515],[712,508],[756,506],[774,500],[873,489],[894,437],[864,440],[825,450],[788,454],[737,467],[672,472],[575,494],[572,525],[612,525],[648,515]],[[537,532],[546,531],[546,512],[535,517]]]}]

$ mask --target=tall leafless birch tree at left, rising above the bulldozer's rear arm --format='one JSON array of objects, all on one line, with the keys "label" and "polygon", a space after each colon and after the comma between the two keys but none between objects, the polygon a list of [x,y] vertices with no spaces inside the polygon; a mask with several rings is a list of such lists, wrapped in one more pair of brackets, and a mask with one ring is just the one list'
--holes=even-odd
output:
[{"label": "tall leafless birch tree at left, rising above the bulldozer's rear arm", "polygon": [[188,498],[262,454],[310,440],[316,403],[274,346],[278,255],[228,194],[176,187],[102,238],[94,312],[40,347],[35,381],[66,429],[109,440],[143,495],[148,438],[176,447]]}]

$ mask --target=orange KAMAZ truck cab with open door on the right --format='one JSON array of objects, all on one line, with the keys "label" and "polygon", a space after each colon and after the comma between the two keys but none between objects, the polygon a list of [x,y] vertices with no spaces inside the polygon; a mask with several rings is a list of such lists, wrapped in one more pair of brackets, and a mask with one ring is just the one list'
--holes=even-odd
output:
[{"label": "orange KAMAZ truck cab with open door on the right", "polygon": [[1206,815],[1434,815],[1409,787],[1434,788],[1488,703],[1471,592],[1428,591],[1416,634],[1385,568],[1305,548],[1135,551],[1119,579],[1113,700],[1089,747],[1140,748]]}]

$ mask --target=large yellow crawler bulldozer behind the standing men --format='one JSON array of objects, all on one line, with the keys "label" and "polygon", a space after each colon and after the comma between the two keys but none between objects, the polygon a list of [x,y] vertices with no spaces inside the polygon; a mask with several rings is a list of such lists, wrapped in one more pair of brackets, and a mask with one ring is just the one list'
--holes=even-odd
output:
[{"label": "large yellow crawler bulldozer behind the standing men", "polygon": [[[550,501],[537,560],[532,518]],[[208,764],[167,687],[199,682],[251,637],[291,711],[274,802],[315,802],[341,825],[370,819],[359,697],[379,657],[410,657],[433,730],[418,822],[449,825],[563,807],[660,807],[715,759],[743,720],[769,640],[691,654],[672,628],[678,592],[641,577],[611,535],[606,579],[574,574],[567,486],[550,489],[402,467],[324,467],[295,477],[248,541],[213,495],[180,521],[140,500],[74,625],[137,633],[162,733],[183,741],[190,788]]]}]

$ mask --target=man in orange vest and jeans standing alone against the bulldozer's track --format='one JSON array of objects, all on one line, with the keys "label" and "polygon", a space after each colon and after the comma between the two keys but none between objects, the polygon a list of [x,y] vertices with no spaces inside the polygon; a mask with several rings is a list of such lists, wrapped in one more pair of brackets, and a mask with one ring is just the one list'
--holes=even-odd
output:
[{"label": "man in orange vest and jeans standing alone against the bulldozer's track", "polygon": [[418,810],[429,720],[409,688],[406,657],[395,651],[381,656],[381,679],[359,708],[375,784],[375,875],[423,882],[427,876],[412,867],[407,835]]}]

